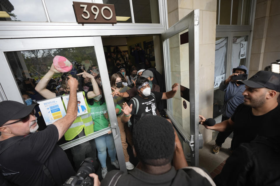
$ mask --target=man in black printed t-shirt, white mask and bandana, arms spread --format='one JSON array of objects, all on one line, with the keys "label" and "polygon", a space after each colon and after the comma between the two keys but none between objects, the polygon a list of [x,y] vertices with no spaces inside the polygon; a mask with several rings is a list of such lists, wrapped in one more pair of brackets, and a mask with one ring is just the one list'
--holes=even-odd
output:
[{"label": "man in black printed t-shirt, white mask and bandana, arms spread", "polygon": [[147,78],[140,76],[136,80],[136,88],[138,95],[132,98],[128,103],[123,104],[123,114],[121,121],[126,123],[131,115],[134,115],[135,122],[137,122],[142,113],[150,112],[156,115],[157,102],[162,99],[173,98],[178,90],[178,83],[172,85],[172,90],[169,92],[152,92]]}]

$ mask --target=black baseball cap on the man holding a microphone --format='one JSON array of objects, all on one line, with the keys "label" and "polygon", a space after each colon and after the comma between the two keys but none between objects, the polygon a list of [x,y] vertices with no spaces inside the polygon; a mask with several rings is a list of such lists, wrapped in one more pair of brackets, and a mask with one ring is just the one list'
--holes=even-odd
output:
[{"label": "black baseball cap on the man holding a microphone", "polygon": [[239,85],[247,85],[252,88],[269,88],[280,92],[280,74],[276,74],[272,71],[258,71],[250,79],[245,81],[237,81]]}]

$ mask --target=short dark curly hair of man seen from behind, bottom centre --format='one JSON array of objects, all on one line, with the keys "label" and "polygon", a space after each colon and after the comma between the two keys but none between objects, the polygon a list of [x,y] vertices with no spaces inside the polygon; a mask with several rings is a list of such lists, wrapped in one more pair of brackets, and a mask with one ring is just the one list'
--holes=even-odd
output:
[{"label": "short dark curly hair of man seen from behind, bottom centre", "polygon": [[162,166],[171,162],[175,148],[172,124],[158,116],[141,118],[133,129],[137,158],[144,164]]}]

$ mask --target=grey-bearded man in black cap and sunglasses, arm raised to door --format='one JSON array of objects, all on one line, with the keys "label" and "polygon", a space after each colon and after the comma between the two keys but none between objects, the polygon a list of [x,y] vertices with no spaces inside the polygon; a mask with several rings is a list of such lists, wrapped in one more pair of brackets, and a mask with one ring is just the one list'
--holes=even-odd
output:
[{"label": "grey-bearded man in black cap and sunglasses, arm raised to door", "polygon": [[66,153],[56,145],[77,117],[78,81],[68,76],[67,114],[36,132],[34,107],[16,101],[0,103],[0,170],[15,185],[62,185],[75,174]]}]

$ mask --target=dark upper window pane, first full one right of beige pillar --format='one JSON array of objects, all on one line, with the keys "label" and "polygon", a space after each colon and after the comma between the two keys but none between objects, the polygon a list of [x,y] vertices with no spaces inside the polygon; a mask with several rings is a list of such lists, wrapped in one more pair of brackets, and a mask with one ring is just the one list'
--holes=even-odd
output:
[{"label": "dark upper window pane, first full one right of beige pillar", "polygon": [[231,0],[221,0],[220,24],[230,24]]}]

